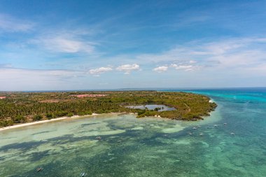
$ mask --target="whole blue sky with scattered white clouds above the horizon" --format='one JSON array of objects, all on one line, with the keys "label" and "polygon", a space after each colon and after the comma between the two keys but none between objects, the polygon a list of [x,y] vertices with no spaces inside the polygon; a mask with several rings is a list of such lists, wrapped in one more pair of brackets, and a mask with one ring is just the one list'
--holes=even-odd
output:
[{"label": "whole blue sky with scattered white clouds above the horizon", "polygon": [[266,1],[0,0],[0,91],[266,86]]}]

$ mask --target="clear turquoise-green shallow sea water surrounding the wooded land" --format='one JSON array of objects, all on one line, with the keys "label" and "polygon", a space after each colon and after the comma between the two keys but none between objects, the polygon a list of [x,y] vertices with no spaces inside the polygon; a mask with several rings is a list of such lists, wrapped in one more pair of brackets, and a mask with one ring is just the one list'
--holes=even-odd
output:
[{"label": "clear turquoise-green shallow sea water surrounding the wooded land", "polygon": [[266,90],[189,92],[216,101],[211,117],[101,115],[2,131],[0,176],[266,176]]}]

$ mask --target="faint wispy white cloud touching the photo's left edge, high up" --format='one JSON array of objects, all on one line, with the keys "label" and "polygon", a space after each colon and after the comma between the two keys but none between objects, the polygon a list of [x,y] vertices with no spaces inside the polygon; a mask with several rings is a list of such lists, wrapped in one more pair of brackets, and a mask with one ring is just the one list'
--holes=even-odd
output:
[{"label": "faint wispy white cloud touching the photo's left edge, high up", "polygon": [[0,29],[6,32],[29,31],[34,27],[33,22],[19,20],[9,15],[0,14]]}]

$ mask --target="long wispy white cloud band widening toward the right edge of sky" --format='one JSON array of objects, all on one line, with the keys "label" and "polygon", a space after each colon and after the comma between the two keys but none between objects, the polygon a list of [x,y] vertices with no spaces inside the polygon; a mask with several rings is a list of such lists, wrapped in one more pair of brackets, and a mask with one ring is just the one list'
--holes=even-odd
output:
[{"label": "long wispy white cloud band widening toward the right edge of sky", "polygon": [[[230,40],[221,40],[217,42],[192,41],[183,45],[176,45],[171,50],[155,54],[141,54],[135,56],[120,56],[118,59],[132,62],[138,61],[140,64],[171,64],[179,62],[185,64],[208,64],[210,60],[216,60],[215,57],[225,55],[240,55],[247,50],[257,51],[256,45],[265,48],[265,38],[235,38]],[[230,60],[228,58],[227,60]],[[252,60],[252,59],[250,59]],[[119,62],[119,61],[118,61]],[[219,61],[220,62],[220,61]]]}]

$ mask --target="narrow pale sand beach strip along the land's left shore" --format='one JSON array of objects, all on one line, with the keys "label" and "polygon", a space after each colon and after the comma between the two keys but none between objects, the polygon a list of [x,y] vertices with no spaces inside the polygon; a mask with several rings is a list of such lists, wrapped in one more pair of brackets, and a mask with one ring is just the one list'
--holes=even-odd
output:
[{"label": "narrow pale sand beach strip along the land's left shore", "polygon": [[36,122],[27,122],[27,123],[22,123],[22,124],[18,124],[18,125],[11,125],[11,126],[8,126],[8,127],[1,127],[0,128],[0,132],[4,131],[4,130],[7,130],[7,129],[15,129],[15,128],[20,128],[20,127],[27,127],[27,126],[30,126],[30,125],[37,125],[37,124],[42,124],[42,123],[46,123],[46,122],[54,122],[54,121],[57,121],[57,120],[92,117],[92,116],[106,115],[106,114],[118,114],[118,113],[102,113],[102,114],[92,113],[92,115],[73,115],[71,117],[61,117],[61,118],[54,118],[54,119],[50,119],[50,120],[39,120],[39,121],[36,121]]}]

